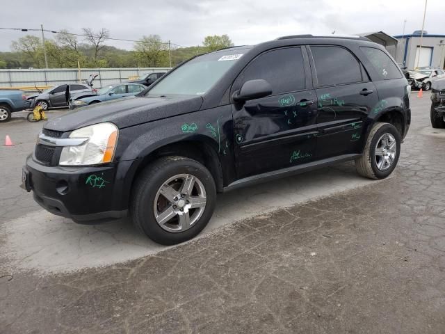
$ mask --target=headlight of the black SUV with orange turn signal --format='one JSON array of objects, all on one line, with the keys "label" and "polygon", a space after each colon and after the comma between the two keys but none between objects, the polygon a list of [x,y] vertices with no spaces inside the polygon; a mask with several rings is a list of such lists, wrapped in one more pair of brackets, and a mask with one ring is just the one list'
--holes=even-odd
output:
[{"label": "headlight of the black SUV with orange turn signal", "polygon": [[86,138],[88,141],[79,146],[65,146],[60,154],[59,165],[105,164],[113,161],[118,142],[118,127],[113,123],[90,125],[74,130],[70,138]]}]

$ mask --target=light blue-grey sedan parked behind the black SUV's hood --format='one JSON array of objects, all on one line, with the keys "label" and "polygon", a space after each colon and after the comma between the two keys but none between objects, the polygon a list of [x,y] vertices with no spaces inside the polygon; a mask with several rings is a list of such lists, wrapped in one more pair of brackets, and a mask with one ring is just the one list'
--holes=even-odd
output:
[{"label": "light blue-grey sedan parked behind the black SUV's hood", "polygon": [[100,88],[97,94],[79,95],[70,100],[70,109],[79,108],[79,106],[88,106],[99,102],[121,99],[139,94],[145,90],[141,84],[114,84]]}]

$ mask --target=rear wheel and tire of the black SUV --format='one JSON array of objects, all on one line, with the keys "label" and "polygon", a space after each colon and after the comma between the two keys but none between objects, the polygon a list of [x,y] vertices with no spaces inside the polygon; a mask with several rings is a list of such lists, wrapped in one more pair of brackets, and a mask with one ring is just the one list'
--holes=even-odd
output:
[{"label": "rear wheel and tire of the black SUV", "polygon": [[[385,138],[388,141],[385,141]],[[387,146],[392,146],[392,148],[388,150]],[[394,148],[396,148],[395,152]],[[382,155],[375,154],[378,149],[381,149]],[[401,135],[394,125],[375,123],[366,139],[362,156],[355,159],[355,169],[364,177],[384,179],[396,168],[400,152]]]}]

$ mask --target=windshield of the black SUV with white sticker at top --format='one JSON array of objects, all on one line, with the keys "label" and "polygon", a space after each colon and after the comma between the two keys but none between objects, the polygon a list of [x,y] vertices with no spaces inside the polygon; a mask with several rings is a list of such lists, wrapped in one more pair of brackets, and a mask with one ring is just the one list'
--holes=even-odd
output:
[{"label": "windshield of the black SUV with white sticker at top", "polygon": [[150,95],[202,95],[207,92],[248,49],[227,49],[193,58],[162,79]]}]

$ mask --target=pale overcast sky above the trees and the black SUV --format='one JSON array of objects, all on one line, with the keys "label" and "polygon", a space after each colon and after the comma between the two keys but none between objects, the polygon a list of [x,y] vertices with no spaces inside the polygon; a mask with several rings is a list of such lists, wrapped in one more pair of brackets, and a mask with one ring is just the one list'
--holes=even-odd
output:
[{"label": "pale overcast sky above the trees and the black SUV", "polygon": [[[110,31],[113,38],[137,40],[158,34],[177,45],[200,45],[206,35],[227,33],[235,45],[256,44],[280,35],[420,30],[424,0],[14,0],[3,2],[3,28]],[[445,1],[429,0],[425,30],[445,34]],[[37,34],[39,33],[31,33]],[[21,31],[0,30],[0,51],[9,51]],[[46,33],[51,38],[51,33]],[[108,41],[131,49],[131,42]]]}]

